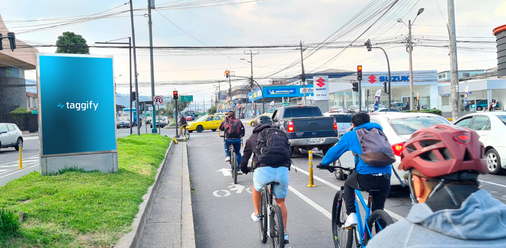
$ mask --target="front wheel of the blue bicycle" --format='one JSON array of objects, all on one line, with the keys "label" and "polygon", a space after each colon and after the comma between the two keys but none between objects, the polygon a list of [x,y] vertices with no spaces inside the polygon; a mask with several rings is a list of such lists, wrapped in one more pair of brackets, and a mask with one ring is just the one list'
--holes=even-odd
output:
[{"label": "front wheel of the blue bicycle", "polygon": [[332,234],[335,248],[351,248],[353,245],[353,229],[345,229],[346,208],[343,205],[344,192],[335,193],[332,202]]}]

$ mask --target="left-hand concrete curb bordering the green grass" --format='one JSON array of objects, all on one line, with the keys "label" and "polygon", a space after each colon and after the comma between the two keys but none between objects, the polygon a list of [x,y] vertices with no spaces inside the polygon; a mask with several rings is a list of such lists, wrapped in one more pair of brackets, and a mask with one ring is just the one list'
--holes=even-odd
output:
[{"label": "left-hand concrete curb bordering the green grass", "polygon": [[[153,208],[153,201],[156,193],[158,192],[160,182],[162,179],[163,171],[165,170],[165,163],[169,157],[169,152],[172,150],[174,146],[174,140],[171,140],[171,144],[165,153],[165,158],[161,162],[158,167],[158,171],[156,173],[155,182],[148,188],[148,192],[142,196],[142,203],[139,205],[139,212],[135,216],[134,222],[132,223],[132,228],[134,230],[129,233],[121,236],[119,241],[114,245],[114,248],[138,248],[140,241],[142,239],[142,235],[144,233],[144,227],[148,222],[149,215],[151,214],[151,209]],[[186,151],[186,146],[185,146]],[[184,160],[183,160],[184,161]],[[188,159],[187,159],[188,161]],[[188,166],[187,166],[188,167]],[[189,191],[189,190],[188,190]],[[192,219],[193,226],[193,219]],[[195,237],[194,237],[195,238]]]}]

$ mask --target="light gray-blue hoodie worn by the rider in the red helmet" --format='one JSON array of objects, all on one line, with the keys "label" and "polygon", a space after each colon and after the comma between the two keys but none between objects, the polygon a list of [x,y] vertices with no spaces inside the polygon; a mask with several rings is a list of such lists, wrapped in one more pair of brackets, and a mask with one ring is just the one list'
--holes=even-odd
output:
[{"label": "light gray-blue hoodie worn by the rider in the red helmet", "polygon": [[433,212],[426,203],[415,204],[406,220],[388,226],[367,244],[386,247],[506,247],[506,205],[483,189],[467,197],[459,209]]}]

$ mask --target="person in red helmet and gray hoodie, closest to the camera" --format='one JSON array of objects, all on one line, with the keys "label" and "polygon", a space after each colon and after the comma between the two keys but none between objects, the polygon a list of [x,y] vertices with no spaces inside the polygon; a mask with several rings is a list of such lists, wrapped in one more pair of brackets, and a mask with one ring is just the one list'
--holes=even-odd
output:
[{"label": "person in red helmet and gray hoodie, closest to the camera", "polygon": [[478,187],[487,164],[476,132],[449,125],[420,129],[404,144],[401,169],[409,172],[416,204],[367,248],[504,247],[506,205]]}]

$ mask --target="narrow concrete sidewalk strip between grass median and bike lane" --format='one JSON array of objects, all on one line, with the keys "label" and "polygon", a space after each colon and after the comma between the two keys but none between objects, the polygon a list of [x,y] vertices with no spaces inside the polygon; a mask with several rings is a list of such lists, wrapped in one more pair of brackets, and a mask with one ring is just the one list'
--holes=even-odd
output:
[{"label": "narrow concrete sidewalk strip between grass median and bike lane", "polygon": [[173,146],[140,248],[195,247],[186,142]]}]

